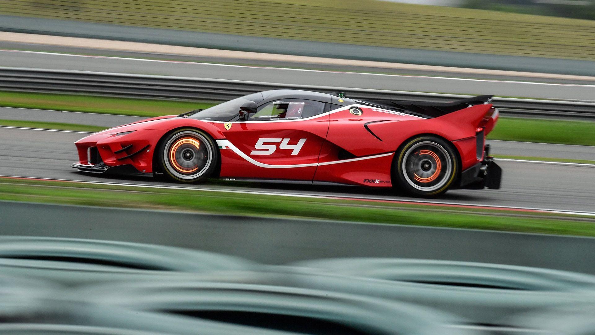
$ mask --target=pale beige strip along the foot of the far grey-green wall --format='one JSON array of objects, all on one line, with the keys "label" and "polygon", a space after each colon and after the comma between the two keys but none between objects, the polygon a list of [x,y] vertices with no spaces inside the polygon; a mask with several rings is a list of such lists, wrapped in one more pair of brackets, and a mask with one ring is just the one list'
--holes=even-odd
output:
[{"label": "pale beige strip along the foot of the far grey-green wall", "polygon": [[[11,35],[11,37],[8,35]],[[44,44],[48,43],[48,38],[51,39],[51,42],[54,42],[55,44]],[[7,39],[10,39],[10,41],[5,41]],[[57,39],[60,41],[56,41]],[[85,46],[83,47],[81,45]],[[118,47],[124,49],[118,49]],[[126,48],[128,48],[129,51],[123,51],[126,50]],[[183,48],[183,52],[186,53],[176,53],[182,52],[178,48]],[[302,58],[300,56],[296,57],[291,55],[253,54],[251,52],[236,52],[220,49],[187,48],[183,46],[180,47],[156,44],[136,44],[134,42],[124,41],[79,39],[65,36],[32,35],[7,32],[0,32],[0,49],[124,58],[148,58],[171,61],[193,61],[198,63],[242,64],[249,66],[272,66],[313,70],[318,69],[341,72],[386,73],[389,75],[466,77],[477,79],[546,83],[593,84],[593,77],[585,76],[565,76],[547,73],[522,73],[453,67],[428,67],[413,64],[375,63],[333,58],[312,59],[311,57]],[[143,51],[140,51],[139,49]],[[317,61],[321,60],[323,61],[322,63],[317,63]]]}]

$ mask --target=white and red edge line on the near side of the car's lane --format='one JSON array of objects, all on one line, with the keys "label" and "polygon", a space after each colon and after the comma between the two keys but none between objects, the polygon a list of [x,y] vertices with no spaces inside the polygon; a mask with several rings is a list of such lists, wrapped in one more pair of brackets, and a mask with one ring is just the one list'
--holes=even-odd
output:
[{"label": "white and red edge line on the near side of the car's lane", "polygon": [[461,207],[477,207],[477,208],[493,208],[493,209],[511,209],[511,210],[527,210],[531,212],[541,212],[541,213],[555,213],[555,214],[565,214],[565,215],[580,215],[580,216],[592,216],[595,217],[595,212],[575,212],[571,210],[558,210],[558,209],[543,209],[543,208],[532,208],[532,207],[516,207],[516,206],[495,206],[495,205],[487,205],[487,204],[469,204],[469,203],[454,203],[454,202],[447,202],[447,201],[428,201],[428,200],[409,200],[409,199],[387,199],[387,198],[378,198],[378,197],[369,197],[365,195],[358,195],[358,196],[347,196],[347,195],[328,195],[328,196],[321,196],[315,194],[299,194],[295,193],[295,191],[287,191],[293,193],[284,193],[284,191],[279,192],[270,192],[270,191],[250,191],[250,190],[231,190],[231,189],[222,189],[222,188],[205,188],[205,187],[186,187],[186,186],[177,186],[177,185],[154,185],[154,184],[127,184],[123,182],[99,182],[99,181],[82,181],[77,179],[58,179],[58,178],[37,178],[37,177],[27,177],[27,176],[11,176],[11,175],[0,175],[0,177],[8,177],[8,178],[22,178],[22,179],[37,179],[37,180],[46,180],[46,181],[67,181],[67,182],[75,182],[79,184],[96,184],[96,185],[107,185],[107,186],[124,186],[124,187],[136,187],[136,188],[160,188],[164,190],[189,190],[189,191],[207,191],[207,192],[219,192],[219,193],[236,193],[236,194],[259,194],[262,196],[282,196],[282,197],[299,197],[299,198],[321,198],[321,199],[349,199],[349,200],[373,200],[373,201],[387,201],[387,202],[395,202],[395,203],[412,203],[412,204],[437,204],[437,205],[450,205],[450,206],[461,206]]}]

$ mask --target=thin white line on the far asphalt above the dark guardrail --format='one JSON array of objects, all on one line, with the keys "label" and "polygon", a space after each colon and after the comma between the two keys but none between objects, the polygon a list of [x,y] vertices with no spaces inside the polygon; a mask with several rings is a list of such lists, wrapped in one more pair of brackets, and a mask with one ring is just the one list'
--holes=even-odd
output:
[{"label": "thin white line on the far asphalt above the dark guardrail", "polygon": [[544,86],[595,87],[595,85],[584,85],[584,84],[542,83],[542,82],[527,82],[527,81],[519,81],[519,80],[468,79],[468,78],[439,77],[439,76],[386,75],[383,73],[324,71],[324,70],[292,69],[292,68],[287,68],[287,67],[268,67],[268,66],[245,66],[245,65],[231,65],[231,64],[200,63],[200,62],[193,62],[193,61],[152,60],[152,59],[146,59],[146,58],[61,54],[59,52],[22,51],[22,50],[10,50],[10,49],[0,49],[0,51],[2,51],[2,52],[23,52],[23,53],[29,53],[29,54],[42,54],[42,55],[58,55],[58,56],[65,56],[65,57],[105,58],[105,59],[118,59],[118,60],[129,60],[129,61],[151,61],[151,62],[157,62],[157,63],[181,63],[181,64],[220,66],[220,67],[243,67],[243,68],[270,69],[270,70],[290,70],[290,71],[299,71],[299,72],[352,73],[354,75],[366,75],[366,76],[419,77],[419,78],[433,78],[433,79],[447,79],[447,80],[464,80],[464,81],[472,81],[472,82],[505,82],[505,83],[523,83],[523,84],[544,85]]}]

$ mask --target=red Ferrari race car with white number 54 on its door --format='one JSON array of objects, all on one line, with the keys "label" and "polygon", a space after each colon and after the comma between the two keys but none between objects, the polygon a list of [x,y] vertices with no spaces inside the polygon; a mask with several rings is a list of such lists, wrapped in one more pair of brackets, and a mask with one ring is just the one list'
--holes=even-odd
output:
[{"label": "red Ferrari race car with white number 54 on its door", "polygon": [[502,170],[484,137],[491,96],[453,103],[354,100],[278,89],[77,141],[73,168],[207,178],[396,187],[415,196],[497,189]]}]

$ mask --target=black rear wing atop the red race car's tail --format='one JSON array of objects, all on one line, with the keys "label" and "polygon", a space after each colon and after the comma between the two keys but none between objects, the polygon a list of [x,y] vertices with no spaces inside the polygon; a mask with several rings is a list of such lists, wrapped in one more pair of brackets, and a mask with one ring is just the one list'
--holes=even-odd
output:
[{"label": "black rear wing atop the red race car's tail", "polygon": [[467,107],[489,104],[492,97],[493,95],[478,95],[477,97],[466,98],[449,103],[399,100],[366,100],[364,102],[389,108],[399,108],[400,110],[409,111],[412,114],[432,119]]}]

